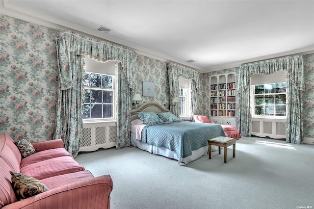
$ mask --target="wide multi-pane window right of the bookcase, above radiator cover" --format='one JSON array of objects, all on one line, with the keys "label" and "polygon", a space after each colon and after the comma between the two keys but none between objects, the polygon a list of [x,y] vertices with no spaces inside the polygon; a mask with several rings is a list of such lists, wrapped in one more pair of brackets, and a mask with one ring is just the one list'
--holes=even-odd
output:
[{"label": "wide multi-pane window right of the bookcase, above radiator cover", "polygon": [[252,85],[253,116],[286,117],[286,82]]}]

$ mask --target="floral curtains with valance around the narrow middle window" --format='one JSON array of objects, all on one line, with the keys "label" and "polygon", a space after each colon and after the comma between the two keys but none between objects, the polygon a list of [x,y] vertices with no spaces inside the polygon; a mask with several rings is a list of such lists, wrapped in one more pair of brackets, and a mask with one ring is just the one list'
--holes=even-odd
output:
[{"label": "floral curtains with valance around the narrow middle window", "polygon": [[200,73],[192,68],[188,68],[182,65],[178,65],[176,63],[169,63],[167,65],[168,68],[168,79],[169,79],[169,104],[170,111],[173,112],[174,115],[179,117],[179,106],[173,105],[172,100],[175,97],[179,97],[179,77],[183,77],[185,79],[191,79],[191,92],[192,92],[192,102],[191,102],[191,114],[199,111],[198,109],[198,100],[200,94]]}]

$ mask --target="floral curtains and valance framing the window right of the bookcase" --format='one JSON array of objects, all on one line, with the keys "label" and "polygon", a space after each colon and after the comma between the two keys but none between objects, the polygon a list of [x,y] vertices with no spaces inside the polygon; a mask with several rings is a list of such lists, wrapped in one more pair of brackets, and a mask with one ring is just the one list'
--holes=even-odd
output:
[{"label": "floral curtains and valance framing the window right of the bookcase", "polygon": [[[236,113],[237,128],[241,135],[250,136],[251,123],[250,77],[254,74],[269,75],[285,70],[287,78],[287,138],[286,141],[301,144],[303,141],[303,105],[301,102],[304,87],[304,66],[302,55],[286,56],[278,59],[254,62],[240,66],[237,74],[238,92]],[[243,100],[243,101],[242,101]]]}]

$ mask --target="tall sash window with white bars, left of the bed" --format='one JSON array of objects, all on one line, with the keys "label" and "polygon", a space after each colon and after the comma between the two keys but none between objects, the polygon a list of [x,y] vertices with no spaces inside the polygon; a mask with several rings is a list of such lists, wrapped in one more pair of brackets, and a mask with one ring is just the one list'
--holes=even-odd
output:
[{"label": "tall sash window with white bars, left of the bed", "polygon": [[85,73],[83,119],[114,118],[114,76]]}]

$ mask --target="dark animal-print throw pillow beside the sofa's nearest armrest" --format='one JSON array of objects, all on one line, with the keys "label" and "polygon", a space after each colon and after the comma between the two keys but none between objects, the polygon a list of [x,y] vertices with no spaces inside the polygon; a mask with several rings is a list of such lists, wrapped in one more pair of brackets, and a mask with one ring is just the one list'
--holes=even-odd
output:
[{"label": "dark animal-print throw pillow beside the sofa's nearest armrest", "polygon": [[12,175],[13,189],[16,196],[20,199],[26,199],[49,190],[48,187],[38,179],[14,171],[10,171],[10,174]]}]

